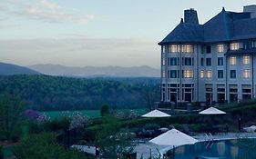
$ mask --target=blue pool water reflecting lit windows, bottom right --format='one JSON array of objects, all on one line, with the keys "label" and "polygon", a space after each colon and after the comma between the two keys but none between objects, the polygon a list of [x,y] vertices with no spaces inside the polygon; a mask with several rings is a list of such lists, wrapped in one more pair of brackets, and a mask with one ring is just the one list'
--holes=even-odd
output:
[{"label": "blue pool water reflecting lit windows, bottom right", "polygon": [[256,140],[201,142],[175,148],[175,159],[256,159]]}]

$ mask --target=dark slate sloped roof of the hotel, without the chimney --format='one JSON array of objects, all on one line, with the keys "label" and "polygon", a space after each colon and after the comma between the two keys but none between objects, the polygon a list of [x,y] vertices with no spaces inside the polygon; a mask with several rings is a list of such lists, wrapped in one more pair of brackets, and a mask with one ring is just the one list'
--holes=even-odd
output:
[{"label": "dark slate sloped roof of the hotel, without the chimney", "polygon": [[228,12],[224,9],[204,25],[180,22],[159,45],[169,43],[220,42],[256,38],[256,18],[250,13]]}]

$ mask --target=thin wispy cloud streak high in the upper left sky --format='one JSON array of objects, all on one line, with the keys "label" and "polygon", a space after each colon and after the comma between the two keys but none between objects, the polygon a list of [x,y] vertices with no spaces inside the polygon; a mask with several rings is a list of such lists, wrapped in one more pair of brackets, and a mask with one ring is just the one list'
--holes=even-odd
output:
[{"label": "thin wispy cloud streak high in the upper left sky", "polygon": [[56,3],[48,0],[37,0],[35,4],[23,4],[13,12],[15,15],[33,20],[40,20],[47,23],[67,23],[75,25],[87,25],[88,21],[95,18],[95,15],[80,15],[69,12]]}]

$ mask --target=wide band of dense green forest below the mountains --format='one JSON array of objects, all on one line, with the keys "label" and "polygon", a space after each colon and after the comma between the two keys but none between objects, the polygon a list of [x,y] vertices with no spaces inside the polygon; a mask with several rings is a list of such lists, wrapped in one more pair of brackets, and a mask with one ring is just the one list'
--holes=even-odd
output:
[{"label": "wide band of dense green forest below the mountains", "polygon": [[1,75],[0,94],[19,95],[26,108],[40,111],[153,107],[158,78],[71,78],[50,75]]}]

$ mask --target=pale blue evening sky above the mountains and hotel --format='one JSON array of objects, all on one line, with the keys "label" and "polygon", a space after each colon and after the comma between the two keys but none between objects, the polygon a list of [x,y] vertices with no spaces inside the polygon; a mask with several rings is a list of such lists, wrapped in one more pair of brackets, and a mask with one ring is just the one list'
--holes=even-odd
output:
[{"label": "pale blue evening sky above the mountains and hotel", "polygon": [[[207,2],[207,3],[206,3]],[[158,43],[194,8],[200,24],[255,0],[0,0],[0,61],[160,67]]]}]

